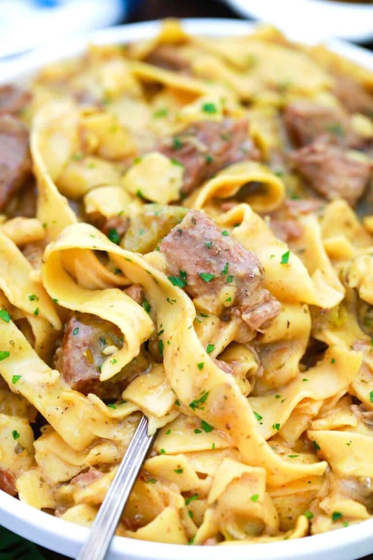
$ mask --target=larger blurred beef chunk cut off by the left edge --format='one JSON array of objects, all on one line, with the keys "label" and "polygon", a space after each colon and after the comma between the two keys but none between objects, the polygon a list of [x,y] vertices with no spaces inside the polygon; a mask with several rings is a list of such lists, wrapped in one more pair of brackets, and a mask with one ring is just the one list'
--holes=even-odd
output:
[{"label": "larger blurred beef chunk cut off by the left edge", "polygon": [[27,128],[11,115],[0,115],[0,211],[30,174]]}]

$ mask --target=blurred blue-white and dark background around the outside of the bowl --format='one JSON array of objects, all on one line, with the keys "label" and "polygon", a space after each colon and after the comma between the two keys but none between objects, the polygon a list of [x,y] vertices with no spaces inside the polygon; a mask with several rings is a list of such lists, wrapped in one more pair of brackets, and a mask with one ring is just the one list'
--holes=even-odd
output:
[{"label": "blurred blue-white and dark background around the outside of the bowl", "polygon": [[[299,40],[337,37],[373,50],[373,0],[0,0],[0,62],[50,41],[165,17],[268,21]],[[68,559],[0,527],[0,560]]]}]

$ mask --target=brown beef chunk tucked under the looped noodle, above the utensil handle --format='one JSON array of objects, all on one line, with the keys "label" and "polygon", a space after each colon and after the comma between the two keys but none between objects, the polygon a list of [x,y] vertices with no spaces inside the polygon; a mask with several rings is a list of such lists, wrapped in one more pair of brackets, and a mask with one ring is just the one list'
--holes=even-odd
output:
[{"label": "brown beef chunk tucked under the looped noodle, above the utensil handle", "polygon": [[122,391],[149,365],[139,354],[112,379],[101,382],[100,369],[107,355],[107,346],[123,346],[120,329],[99,317],[74,312],[65,325],[62,346],[55,353],[55,368],[72,389],[84,395],[95,393],[101,399],[120,398]]}]

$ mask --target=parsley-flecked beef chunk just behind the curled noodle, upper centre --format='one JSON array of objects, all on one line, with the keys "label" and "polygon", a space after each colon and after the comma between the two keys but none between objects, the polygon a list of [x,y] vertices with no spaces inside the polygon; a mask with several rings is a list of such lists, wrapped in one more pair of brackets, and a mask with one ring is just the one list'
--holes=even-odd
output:
[{"label": "parsley-flecked beef chunk just behind the curled noodle, upper centre", "polygon": [[189,194],[216,172],[238,161],[258,159],[245,119],[204,120],[165,138],[160,152],[184,166],[181,192]]}]

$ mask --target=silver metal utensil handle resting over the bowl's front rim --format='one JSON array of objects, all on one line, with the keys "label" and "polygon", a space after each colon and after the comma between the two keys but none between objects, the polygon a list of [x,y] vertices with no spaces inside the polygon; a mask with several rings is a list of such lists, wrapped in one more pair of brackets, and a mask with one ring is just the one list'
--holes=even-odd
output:
[{"label": "silver metal utensil handle resting over the bowl's front rim", "polygon": [[76,560],[104,560],[141,465],[157,436],[157,432],[148,436],[147,431],[148,419],[143,416]]}]

